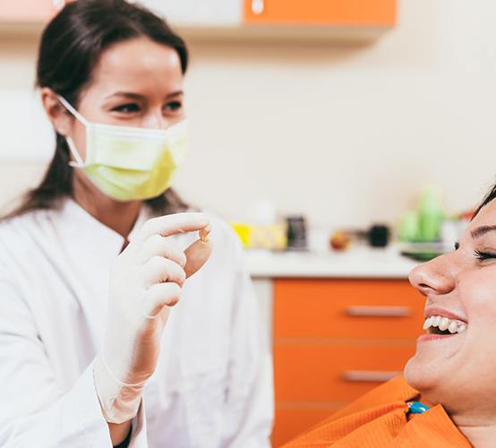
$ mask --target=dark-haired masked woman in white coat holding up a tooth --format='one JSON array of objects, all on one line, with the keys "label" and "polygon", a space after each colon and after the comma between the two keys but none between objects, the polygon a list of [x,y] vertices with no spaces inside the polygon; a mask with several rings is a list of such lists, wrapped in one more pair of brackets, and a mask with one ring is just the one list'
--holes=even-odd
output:
[{"label": "dark-haired masked woman in white coat holding up a tooth", "polygon": [[183,40],[124,0],[68,4],[43,33],[56,153],[0,224],[0,446],[269,446],[242,250],[170,189],[186,66]]}]

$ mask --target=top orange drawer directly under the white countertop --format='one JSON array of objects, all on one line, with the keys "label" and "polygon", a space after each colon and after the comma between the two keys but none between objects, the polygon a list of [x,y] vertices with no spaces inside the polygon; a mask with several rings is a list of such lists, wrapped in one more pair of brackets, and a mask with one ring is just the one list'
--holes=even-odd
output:
[{"label": "top orange drawer directly under the white countertop", "polygon": [[276,338],[416,338],[423,297],[406,280],[275,280]]}]

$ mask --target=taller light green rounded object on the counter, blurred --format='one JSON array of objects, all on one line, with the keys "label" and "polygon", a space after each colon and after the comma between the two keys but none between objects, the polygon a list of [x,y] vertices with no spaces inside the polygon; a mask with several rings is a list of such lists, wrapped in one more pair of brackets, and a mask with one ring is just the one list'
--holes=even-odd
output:
[{"label": "taller light green rounded object on the counter, blurred", "polygon": [[440,192],[434,187],[425,188],[418,206],[418,238],[421,241],[439,240],[443,219]]}]

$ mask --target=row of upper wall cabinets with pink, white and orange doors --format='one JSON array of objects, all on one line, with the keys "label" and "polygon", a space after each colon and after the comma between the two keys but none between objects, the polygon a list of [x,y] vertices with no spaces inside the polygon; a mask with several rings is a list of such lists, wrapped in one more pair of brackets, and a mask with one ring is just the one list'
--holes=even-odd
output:
[{"label": "row of upper wall cabinets with pink, white and orange doors", "polygon": [[[72,0],[0,0],[0,28],[45,24]],[[398,0],[139,0],[186,37],[375,39]]]}]

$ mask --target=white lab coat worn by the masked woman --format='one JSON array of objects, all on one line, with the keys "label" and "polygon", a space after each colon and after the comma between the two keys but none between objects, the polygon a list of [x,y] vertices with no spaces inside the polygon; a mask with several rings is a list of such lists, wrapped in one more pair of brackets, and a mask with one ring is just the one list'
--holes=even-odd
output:
[{"label": "white lab coat worn by the masked woman", "polygon": [[[233,232],[212,224],[213,254],[171,312],[130,446],[269,446],[272,372],[258,305]],[[185,247],[196,237],[175,238]],[[112,446],[91,363],[123,243],[71,200],[0,224],[0,446]]]}]

